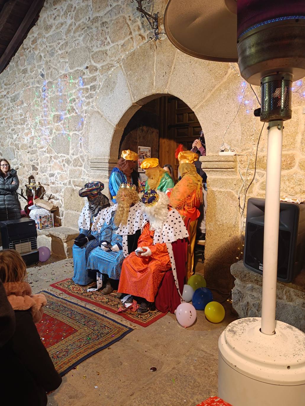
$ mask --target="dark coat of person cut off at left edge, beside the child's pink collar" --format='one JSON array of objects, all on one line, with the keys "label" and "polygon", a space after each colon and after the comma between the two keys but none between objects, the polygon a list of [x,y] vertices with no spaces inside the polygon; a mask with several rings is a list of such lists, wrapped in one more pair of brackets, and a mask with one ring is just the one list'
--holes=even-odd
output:
[{"label": "dark coat of person cut off at left edge, beside the child's pink collar", "polygon": [[7,300],[7,294],[0,280],[0,348],[9,341],[14,331],[15,313]]}]

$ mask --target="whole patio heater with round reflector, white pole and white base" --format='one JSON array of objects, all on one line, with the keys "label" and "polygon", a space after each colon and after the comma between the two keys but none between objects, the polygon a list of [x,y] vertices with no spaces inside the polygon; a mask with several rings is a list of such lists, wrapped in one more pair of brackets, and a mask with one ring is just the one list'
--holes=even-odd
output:
[{"label": "whole patio heater with round reflector, white pole and white base", "polygon": [[[303,404],[305,334],[275,320],[283,122],[292,81],[305,76],[304,0],[169,0],[170,41],[197,58],[237,62],[261,86],[268,123],[262,312],[229,324],[218,341],[218,395],[233,406]],[[236,36],[237,33],[237,36]]]}]

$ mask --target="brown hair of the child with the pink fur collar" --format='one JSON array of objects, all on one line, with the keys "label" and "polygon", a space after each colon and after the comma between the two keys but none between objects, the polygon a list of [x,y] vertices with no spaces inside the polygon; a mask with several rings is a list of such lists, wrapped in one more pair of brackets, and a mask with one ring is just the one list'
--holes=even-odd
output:
[{"label": "brown hair of the child with the pink fur collar", "polygon": [[21,282],[26,276],[26,264],[15,250],[0,251],[0,279],[2,282]]}]

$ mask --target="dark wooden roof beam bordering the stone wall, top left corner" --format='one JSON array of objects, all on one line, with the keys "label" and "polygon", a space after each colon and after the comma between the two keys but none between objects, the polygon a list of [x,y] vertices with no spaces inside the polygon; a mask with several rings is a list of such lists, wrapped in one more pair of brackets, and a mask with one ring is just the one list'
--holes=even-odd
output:
[{"label": "dark wooden roof beam bordering the stone wall, top left corner", "polygon": [[45,0],[33,0],[33,3],[30,5],[28,12],[26,13],[22,23],[20,24],[19,28],[17,29],[15,35],[13,36],[11,42],[7,46],[7,49],[4,51],[0,58],[0,73],[3,71],[5,66],[7,65],[8,61],[12,57],[13,53],[15,52],[18,44],[26,34],[28,27],[30,26],[31,22],[35,18],[38,11],[43,6]]}]

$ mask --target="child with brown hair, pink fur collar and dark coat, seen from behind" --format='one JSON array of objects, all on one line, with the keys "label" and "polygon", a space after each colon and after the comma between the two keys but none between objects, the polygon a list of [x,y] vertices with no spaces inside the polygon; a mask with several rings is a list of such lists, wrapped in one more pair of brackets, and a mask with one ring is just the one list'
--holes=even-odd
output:
[{"label": "child with brown hair, pink fur collar and dark coat, seen from behind", "polygon": [[0,348],[0,397],[16,405],[46,406],[47,393],[59,387],[61,377],[35,326],[42,318],[46,297],[32,294],[25,277],[26,265],[20,254],[0,251],[0,279],[15,311],[16,325],[13,337]]}]

